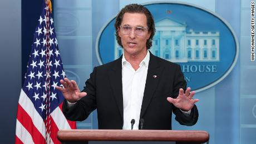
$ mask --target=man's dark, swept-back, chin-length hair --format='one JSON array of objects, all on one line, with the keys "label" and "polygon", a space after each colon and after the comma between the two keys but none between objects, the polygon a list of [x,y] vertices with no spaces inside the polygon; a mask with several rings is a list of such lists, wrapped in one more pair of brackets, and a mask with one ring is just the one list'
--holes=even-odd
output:
[{"label": "man's dark, swept-back, chin-length hair", "polygon": [[149,9],[145,8],[141,4],[129,4],[129,5],[125,6],[124,8],[122,8],[121,11],[117,14],[116,23],[115,23],[117,43],[122,48],[124,48],[121,43],[121,37],[119,37],[118,28],[120,27],[120,25],[122,23],[122,18],[124,17],[125,13],[144,13],[146,15],[148,31],[151,32],[151,35],[150,35],[149,39],[147,39],[147,42],[146,42],[146,47],[147,47],[147,49],[149,49],[152,46],[152,39],[155,34],[155,23],[154,23],[153,16],[150,13]]}]

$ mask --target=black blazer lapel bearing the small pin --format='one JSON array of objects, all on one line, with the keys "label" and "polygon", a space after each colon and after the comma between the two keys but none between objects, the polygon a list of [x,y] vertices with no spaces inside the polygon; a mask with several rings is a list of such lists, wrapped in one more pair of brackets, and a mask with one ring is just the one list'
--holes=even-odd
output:
[{"label": "black blazer lapel bearing the small pin", "polygon": [[146,108],[149,106],[151,98],[155,93],[162,69],[163,67],[160,67],[159,61],[157,61],[156,57],[150,53],[149,68],[147,69],[147,78],[141,105],[140,118],[143,117]]}]

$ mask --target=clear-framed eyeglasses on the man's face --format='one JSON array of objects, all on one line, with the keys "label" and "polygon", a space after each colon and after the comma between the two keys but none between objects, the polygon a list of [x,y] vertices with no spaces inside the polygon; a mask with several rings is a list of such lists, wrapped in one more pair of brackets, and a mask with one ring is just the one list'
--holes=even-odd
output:
[{"label": "clear-framed eyeglasses on the man's face", "polygon": [[131,27],[131,26],[120,26],[121,28],[121,32],[122,34],[130,34],[131,30],[134,28],[135,29],[135,33],[137,34],[137,36],[144,36],[146,34],[147,27]]}]

